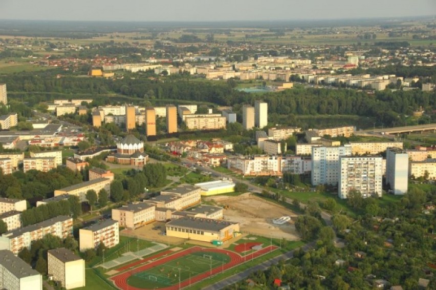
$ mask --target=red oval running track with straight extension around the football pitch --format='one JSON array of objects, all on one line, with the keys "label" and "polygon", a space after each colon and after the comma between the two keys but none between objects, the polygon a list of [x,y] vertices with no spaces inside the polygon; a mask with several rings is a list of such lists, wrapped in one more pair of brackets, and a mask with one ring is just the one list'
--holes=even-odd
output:
[{"label": "red oval running track with straight extension around the football pitch", "polygon": [[[261,249],[261,250],[259,250],[257,252],[254,252],[252,254],[248,254],[247,258],[248,259],[257,258],[257,257],[259,257],[261,255],[264,255],[264,254],[266,254],[268,252],[271,252],[271,251],[275,250],[276,248],[277,248],[276,246],[267,246],[267,247],[265,247],[265,248],[263,248],[263,249]],[[243,257],[241,255],[236,254],[234,252],[227,251],[227,250],[221,250],[221,249],[218,249],[218,248],[202,248],[200,246],[193,246],[193,247],[188,248],[188,249],[186,249],[184,251],[181,251],[181,252],[178,252],[178,253],[166,256],[166,257],[164,257],[164,258],[162,258],[160,260],[157,260],[157,261],[151,262],[149,264],[137,267],[134,270],[127,271],[127,272],[124,272],[122,274],[116,275],[116,276],[114,276],[114,277],[112,277],[110,279],[114,281],[114,284],[118,288],[123,289],[123,290],[127,290],[127,289],[130,289],[130,290],[144,290],[145,288],[137,288],[137,287],[133,287],[133,286],[127,285],[127,278],[129,278],[130,276],[132,276],[132,275],[134,275],[136,273],[146,271],[149,268],[156,267],[156,266],[158,266],[160,264],[167,263],[167,262],[169,262],[171,260],[180,258],[180,257],[188,255],[190,253],[195,253],[195,252],[214,252],[214,253],[227,254],[230,257],[230,262],[224,265],[224,270],[228,270],[229,268],[232,268],[232,267],[234,267],[234,266],[236,266],[238,264],[242,264],[242,263],[244,263],[244,260],[245,260],[245,259],[243,259]],[[181,282],[181,287],[182,288],[186,287],[186,286],[189,285],[189,283],[190,284],[195,284],[195,283],[197,283],[199,281],[202,281],[202,280],[206,279],[209,276],[218,274],[218,273],[220,273],[222,271],[223,271],[223,266],[222,265],[221,266],[217,266],[215,268],[212,268],[212,274],[210,274],[210,271],[206,271],[206,272],[201,273],[201,274],[199,274],[197,276],[191,277],[190,281],[189,281],[189,279],[186,279],[186,280],[182,281]],[[164,287],[164,288],[159,288],[159,289],[161,289],[161,290],[178,290],[179,289],[179,284],[177,283],[175,285],[172,285],[172,286],[169,286],[169,287]]]}]

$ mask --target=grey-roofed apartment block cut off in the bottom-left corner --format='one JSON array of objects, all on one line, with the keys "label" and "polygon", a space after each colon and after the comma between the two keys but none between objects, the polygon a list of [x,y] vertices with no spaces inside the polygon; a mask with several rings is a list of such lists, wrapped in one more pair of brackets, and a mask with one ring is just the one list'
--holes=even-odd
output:
[{"label": "grey-roofed apartment block cut off in the bottom-left corner", "polygon": [[[1,88],[0,88],[1,89]],[[11,251],[0,251],[0,288],[42,290],[42,276]]]}]

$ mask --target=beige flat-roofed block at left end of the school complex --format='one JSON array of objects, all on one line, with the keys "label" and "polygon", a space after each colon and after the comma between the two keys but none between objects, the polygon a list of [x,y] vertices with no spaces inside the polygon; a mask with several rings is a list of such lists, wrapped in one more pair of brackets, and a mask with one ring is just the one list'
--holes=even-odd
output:
[{"label": "beige flat-roofed block at left end of the school complex", "polygon": [[123,205],[112,209],[112,219],[129,230],[138,229],[155,221],[155,206],[144,202]]}]

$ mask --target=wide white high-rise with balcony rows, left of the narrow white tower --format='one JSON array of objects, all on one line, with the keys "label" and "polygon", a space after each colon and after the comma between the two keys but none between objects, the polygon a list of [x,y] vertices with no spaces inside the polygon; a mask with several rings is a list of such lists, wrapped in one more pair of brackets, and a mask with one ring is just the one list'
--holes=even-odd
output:
[{"label": "wide white high-rise with balcony rows, left of the narrow white tower", "polygon": [[340,156],[339,197],[347,198],[352,190],[363,197],[382,196],[381,156]]}]

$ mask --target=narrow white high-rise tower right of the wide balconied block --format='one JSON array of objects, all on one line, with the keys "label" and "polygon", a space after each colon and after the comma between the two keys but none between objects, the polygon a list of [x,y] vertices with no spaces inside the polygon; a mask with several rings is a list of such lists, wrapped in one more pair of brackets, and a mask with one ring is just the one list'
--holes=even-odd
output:
[{"label": "narrow white high-rise tower right of the wide balconied block", "polygon": [[398,148],[386,150],[386,184],[394,194],[407,193],[409,174],[409,155]]}]

